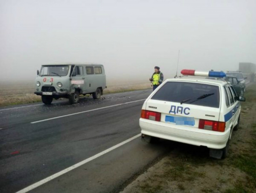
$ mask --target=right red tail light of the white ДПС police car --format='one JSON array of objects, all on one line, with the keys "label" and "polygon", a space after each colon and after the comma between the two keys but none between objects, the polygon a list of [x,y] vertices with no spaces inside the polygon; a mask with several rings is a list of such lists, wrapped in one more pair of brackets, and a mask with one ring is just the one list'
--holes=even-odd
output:
[{"label": "right red tail light of the white \u0414\u041f\u0421 police car", "polygon": [[199,129],[206,129],[206,130],[212,130],[212,131],[219,131],[224,132],[226,127],[225,122],[219,122],[219,121],[209,121],[209,120],[199,120]]}]

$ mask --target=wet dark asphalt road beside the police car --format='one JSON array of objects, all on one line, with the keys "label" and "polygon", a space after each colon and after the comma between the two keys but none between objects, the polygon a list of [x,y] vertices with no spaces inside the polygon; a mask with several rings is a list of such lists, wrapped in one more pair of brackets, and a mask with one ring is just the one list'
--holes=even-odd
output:
[{"label": "wet dark asphalt road beside the police car", "polygon": [[[0,192],[17,192],[140,133],[139,117],[151,90],[0,109]],[[169,146],[169,147],[168,147]],[[118,192],[170,151],[140,137],[30,192]]]}]

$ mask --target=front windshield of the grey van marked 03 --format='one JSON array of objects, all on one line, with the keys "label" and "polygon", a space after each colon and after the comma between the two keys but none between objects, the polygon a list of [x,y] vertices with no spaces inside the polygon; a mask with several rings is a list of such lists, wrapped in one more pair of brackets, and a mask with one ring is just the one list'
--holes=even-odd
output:
[{"label": "front windshield of the grey van marked 03", "polygon": [[42,66],[39,76],[67,76],[68,65]]}]

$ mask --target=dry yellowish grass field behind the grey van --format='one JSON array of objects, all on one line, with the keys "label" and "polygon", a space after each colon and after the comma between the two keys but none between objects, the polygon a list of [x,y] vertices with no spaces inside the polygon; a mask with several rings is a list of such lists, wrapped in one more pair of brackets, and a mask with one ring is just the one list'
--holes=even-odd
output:
[{"label": "dry yellowish grass field behind the grey van", "polygon": [[[108,81],[107,89],[103,93],[124,92],[132,90],[150,89],[148,81]],[[41,96],[34,94],[34,81],[1,82],[0,83],[0,107],[13,104],[27,104],[41,101]]]}]

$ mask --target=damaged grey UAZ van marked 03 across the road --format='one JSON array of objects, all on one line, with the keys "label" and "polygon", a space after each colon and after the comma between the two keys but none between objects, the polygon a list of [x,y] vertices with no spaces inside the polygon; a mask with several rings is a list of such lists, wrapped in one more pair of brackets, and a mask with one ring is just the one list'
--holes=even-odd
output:
[{"label": "damaged grey UAZ van marked 03 across the road", "polygon": [[42,96],[45,104],[53,98],[68,98],[71,104],[78,103],[79,95],[92,94],[100,99],[106,87],[106,75],[101,64],[49,64],[37,70],[36,95]]}]

